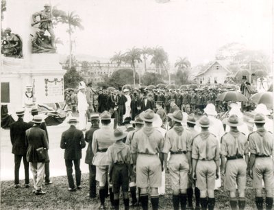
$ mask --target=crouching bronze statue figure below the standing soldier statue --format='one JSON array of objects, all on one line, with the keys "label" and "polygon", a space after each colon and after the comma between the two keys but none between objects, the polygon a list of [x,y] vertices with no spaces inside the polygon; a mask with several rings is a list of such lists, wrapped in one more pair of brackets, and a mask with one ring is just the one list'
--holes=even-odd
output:
[{"label": "crouching bronze statue figure below the standing soldier statue", "polygon": [[40,29],[38,32],[35,33],[34,38],[32,38],[32,53],[55,53],[55,48],[51,45],[51,38],[49,38],[49,36],[45,36],[44,29]]}]

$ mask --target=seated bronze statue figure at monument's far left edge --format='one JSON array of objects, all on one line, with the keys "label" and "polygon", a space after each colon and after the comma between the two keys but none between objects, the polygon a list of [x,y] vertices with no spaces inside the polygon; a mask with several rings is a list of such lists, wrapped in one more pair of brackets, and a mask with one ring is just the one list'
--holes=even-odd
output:
[{"label": "seated bronze statue figure at monument's far left edge", "polygon": [[22,54],[22,40],[18,34],[13,34],[10,27],[5,30],[6,36],[2,40],[1,54],[7,57],[21,58]]}]

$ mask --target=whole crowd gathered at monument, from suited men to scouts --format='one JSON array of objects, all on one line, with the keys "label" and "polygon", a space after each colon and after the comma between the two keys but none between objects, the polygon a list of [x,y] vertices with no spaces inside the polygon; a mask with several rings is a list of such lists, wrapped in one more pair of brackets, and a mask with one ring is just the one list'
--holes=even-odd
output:
[{"label": "whole crowd gathered at monument, from suited men to scouts", "polygon": [[[67,121],[69,129],[60,141],[69,191],[82,189],[80,159],[87,148],[89,196],[96,199],[99,192],[100,209],[105,209],[107,197],[111,206],[119,209],[120,191],[125,209],[138,205],[148,209],[149,198],[152,209],[158,209],[159,196],[165,193],[166,173],[171,180],[174,209],[194,209],[193,195],[195,209],[214,209],[214,189],[221,187],[221,176],[232,209],[245,209],[247,176],[256,190],[257,209],[263,209],[264,202],[266,209],[272,209],[273,121],[264,104],[256,107],[251,132],[236,102],[225,104],[227,115],[218,119],[223,104],[215,100],[221,89],[119,89],[111,93],[102,89],[95,102],[91,86],[79,84],[79,118]],[[37,109],[31,110],[34,117],[29,123],[23,121],[24,113],[17,110],[18,121],[10,127],[14,184],[20,186],[18,170],[23,158],[25,187],[29,187],[30,163],[34,193],[42,195],[46,193],[42,190],[44,177],[46,185],[52,183],[47,127]],[[88,129],[87,121],[91,123]]]}]

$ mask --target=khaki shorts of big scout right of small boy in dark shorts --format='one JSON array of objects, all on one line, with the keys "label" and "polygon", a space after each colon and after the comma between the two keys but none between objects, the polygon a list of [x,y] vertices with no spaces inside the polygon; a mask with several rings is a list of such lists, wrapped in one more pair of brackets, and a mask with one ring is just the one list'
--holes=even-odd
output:
[{"label": "khaki shorts of big scout right of small boy in dark shorts", "polygon": [[137,187],[161,187],[162,167],[157,154],[138,154],[136,162]]}]

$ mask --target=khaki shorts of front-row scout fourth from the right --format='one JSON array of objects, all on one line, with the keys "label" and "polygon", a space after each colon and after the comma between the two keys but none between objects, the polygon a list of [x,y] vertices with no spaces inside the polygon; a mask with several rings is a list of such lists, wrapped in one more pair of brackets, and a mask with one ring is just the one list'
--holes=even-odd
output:
[{"label": "khaki shorts of front-row scout fourth from the right", "polygon": [[189,165],[186,154],[171,154],[171,159],[169,159],[171,189],[179,190],[188,187],[188,171]]}]

